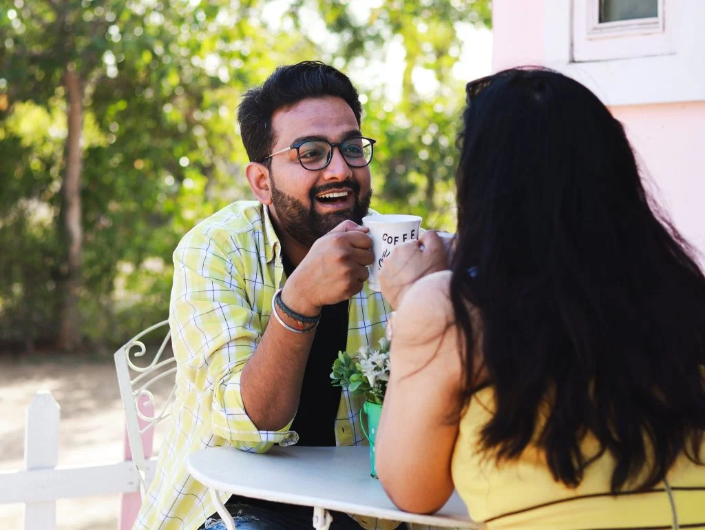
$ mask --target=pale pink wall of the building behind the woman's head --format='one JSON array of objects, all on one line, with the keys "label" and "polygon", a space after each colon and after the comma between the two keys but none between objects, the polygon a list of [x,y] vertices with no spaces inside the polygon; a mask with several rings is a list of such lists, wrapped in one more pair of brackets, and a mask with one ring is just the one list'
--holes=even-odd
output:
[{"label": "pale pink wall of the building behind the woman's head", "polygon": [[[495,71],[546,62],[545,9],[545,0],[494,0]],[[625,126],[647,188],[698,248],[705,266],[705,102],[627,105],[611,111]]]}]

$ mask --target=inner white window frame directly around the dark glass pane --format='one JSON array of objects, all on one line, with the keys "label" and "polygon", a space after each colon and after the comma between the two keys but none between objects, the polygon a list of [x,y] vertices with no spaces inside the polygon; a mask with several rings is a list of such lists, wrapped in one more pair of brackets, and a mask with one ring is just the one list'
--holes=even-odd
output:
[{"label": "inner white window frame directly around the dark glass pane", "polygon": [[[572,0],[573,62],[608,61],[673,53],[666,13],[678,0],[658,0],[658,15],[600,23],[600,0]],[[670,22],[673,22],[672,20]]]}]

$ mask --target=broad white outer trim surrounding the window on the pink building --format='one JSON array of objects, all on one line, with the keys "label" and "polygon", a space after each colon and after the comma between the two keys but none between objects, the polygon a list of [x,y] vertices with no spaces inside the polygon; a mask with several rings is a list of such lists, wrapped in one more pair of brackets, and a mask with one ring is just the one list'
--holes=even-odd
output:
[{"label": "broad white outer trim surrounding the window on the pink building", "polygon": [[[573,21],[582,15],[584,28],[588,28],[589,20],[594,20],[587,18],[587,6],[578,13],[574,0],[543,3],[543,64],[580,80],[605,104],[705,101],[705,0],[666,0],[664,28],[670,37],[669,52],[649,54],[644,44],[638,56],[592,61],[575,61],[574,54]],[[631,36],[649,37],[633,32]],[[616,43],[629,38],[625,35],[604,40],[618,48]]]}]

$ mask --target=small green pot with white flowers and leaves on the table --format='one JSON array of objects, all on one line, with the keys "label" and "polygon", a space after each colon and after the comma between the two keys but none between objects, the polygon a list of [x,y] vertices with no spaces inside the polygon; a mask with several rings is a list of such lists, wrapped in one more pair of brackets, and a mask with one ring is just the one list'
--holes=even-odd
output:
[{"label": "small green pot with white flowers and leaves on the table", "polygon": [[384,393],[389,381],[389,346],[387,339],[379,340],[379,348],[364,346],[351,357],[345,351],[338,351],[338,359],[333,361],[331,379],[334,386],[345,387],[353,396],[364,396],[362,411],[367,416],[367,430],[362,422],[360,426],[369,440],[370,470],[374,478],[374,435],[379,425],[379,416],[384,402]]}]

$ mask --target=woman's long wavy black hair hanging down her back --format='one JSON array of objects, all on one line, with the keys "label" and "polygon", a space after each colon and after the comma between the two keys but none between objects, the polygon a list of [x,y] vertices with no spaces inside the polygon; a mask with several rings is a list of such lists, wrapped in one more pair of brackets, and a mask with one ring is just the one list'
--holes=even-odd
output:
[{"label": "woman's long wavy black hair hanging down her back", "polygon": [[[650,206],[621,124],[537,68],[469,83],[463,120],[450,292],[465,404],[476,339],[496,392],[483,450],[536,444],[568,486],[607,451],[613,492],[653,487],[682,452],[701,464],[705,278]],[[599,454],[582,454],[589,432]]]}]

